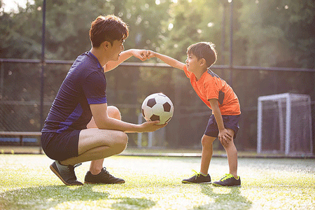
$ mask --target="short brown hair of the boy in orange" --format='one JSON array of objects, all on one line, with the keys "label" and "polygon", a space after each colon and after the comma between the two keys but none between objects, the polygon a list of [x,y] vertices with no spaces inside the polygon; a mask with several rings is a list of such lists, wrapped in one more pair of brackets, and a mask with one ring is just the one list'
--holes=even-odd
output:
[{"label": "short brown hair of the boy in orange", "polygon": [[211,42],[200,42],[190,45],[187,48],[187,54],[193,54],[197,59],[204,58],[206,60],[207,68],[212,66],[217,59],[217,52],[214,49],[216,45]]}]

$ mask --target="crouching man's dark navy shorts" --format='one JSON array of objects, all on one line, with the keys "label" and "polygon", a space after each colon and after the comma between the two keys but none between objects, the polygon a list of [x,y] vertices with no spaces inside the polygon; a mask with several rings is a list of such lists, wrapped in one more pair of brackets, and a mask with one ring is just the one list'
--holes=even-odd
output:
[{"label": "crouching man's dark navy shorts", "polygon": [[43,132],[41,134],[41,146],[43,151],[52,160],[66,160],[78,157],[78,139],[80,130],[62,132]]}]

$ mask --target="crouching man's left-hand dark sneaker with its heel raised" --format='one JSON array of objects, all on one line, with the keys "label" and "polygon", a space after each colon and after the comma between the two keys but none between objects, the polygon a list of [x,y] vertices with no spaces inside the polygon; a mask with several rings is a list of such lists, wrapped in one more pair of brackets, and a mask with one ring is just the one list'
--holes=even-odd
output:
[{"label": "crouching man's left-hand dark sneaker with its heel raised", "polygon": [[76,165],[61,165],[58,160],[52,162],[50,169],[54,172],[61,181],[67,186],[83,186],[83,183],[76,180],[76,174],[74,174],[74,168],[81,165],[78,163]]}]

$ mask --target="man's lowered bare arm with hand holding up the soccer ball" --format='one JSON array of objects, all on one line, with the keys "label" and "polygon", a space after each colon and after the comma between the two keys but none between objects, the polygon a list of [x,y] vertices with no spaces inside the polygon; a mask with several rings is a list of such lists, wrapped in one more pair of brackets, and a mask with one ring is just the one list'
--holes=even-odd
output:
[{"label": "man's lowered bare arm with hand holding up the soccer ball", "polygon": [[136,125],[116,120],[115,118],[109,118],[107,114],[107,104],[90,104],[90,109],[92,111],[94,122],[99,129],[120,130],[123,132],[153,132],[167,125],[155,125],[159,123],[159,121],[151,121]]}]

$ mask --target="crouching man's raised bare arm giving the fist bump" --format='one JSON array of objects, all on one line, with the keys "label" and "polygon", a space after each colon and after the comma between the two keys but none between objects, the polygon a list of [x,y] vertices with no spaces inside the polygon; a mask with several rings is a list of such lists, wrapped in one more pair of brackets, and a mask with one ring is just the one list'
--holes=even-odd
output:
[{"label": "crouching man's raised bare arm giving the fist bump", "polygon": [[130,49],[130,50],[125,50],[120,53],[120,56],[117,61],[109,61],[105,64],[104,66],[104,71],[111,71],[115,69],[119,64],[124,62],[126,59],[130,57],[137,57],[141,59],[141,61],[146,60],[146,50],[137,50],[137,49]]}]

